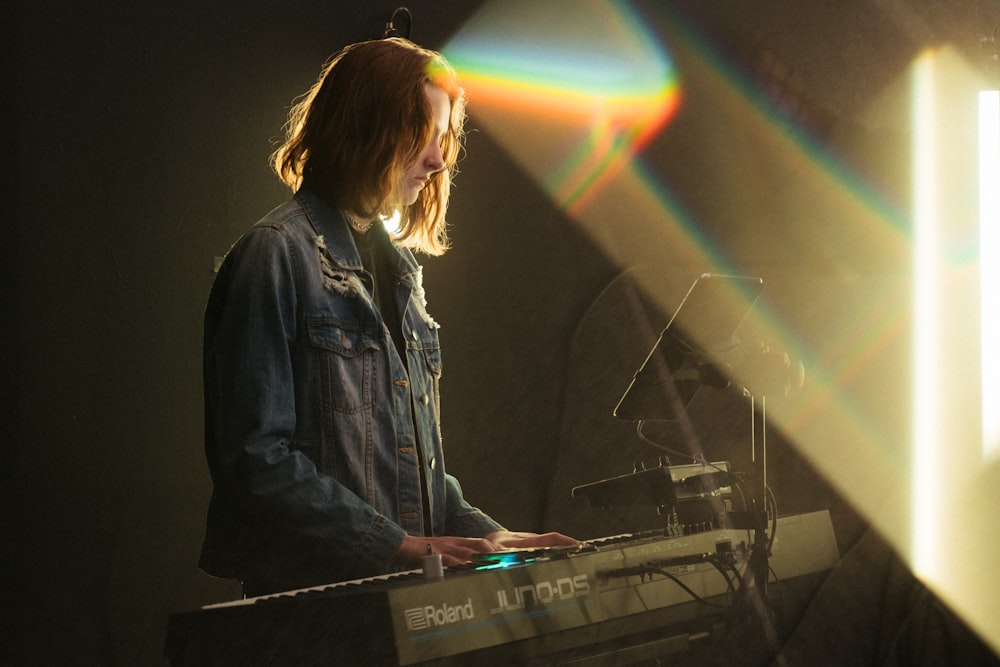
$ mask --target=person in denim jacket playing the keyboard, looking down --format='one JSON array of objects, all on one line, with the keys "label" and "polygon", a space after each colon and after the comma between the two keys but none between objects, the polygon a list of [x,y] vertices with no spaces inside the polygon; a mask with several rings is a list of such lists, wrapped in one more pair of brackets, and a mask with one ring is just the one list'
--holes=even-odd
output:
[{"label": "person in denim jacket playing the keyboard, looking down", "polygon": [[411,249],[448,248],[464,102],[432,51],[396,38],[342,50],[273,157],[293,199],[216,277],[200,564],[247,595],[418,567],[430,552],[453,566],[574,543],[505,530],[445,472],[438,325]]}]

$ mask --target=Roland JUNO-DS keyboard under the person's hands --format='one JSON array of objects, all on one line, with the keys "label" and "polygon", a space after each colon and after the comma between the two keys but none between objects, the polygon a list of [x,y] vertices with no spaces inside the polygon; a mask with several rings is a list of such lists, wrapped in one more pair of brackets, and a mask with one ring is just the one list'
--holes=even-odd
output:
[{"label": "Roland JUNO-DS keyboard under the person's hands", "polygon": [[[498,552],[435,580],[415,570],[210,605],[171,617],[165,652],[176,667],[548,664],[651,632],[683,644],[732,609],[752,541],[735,529],[625,535]],[[778,519],[772,581],[837,560],[828,512]]]}]

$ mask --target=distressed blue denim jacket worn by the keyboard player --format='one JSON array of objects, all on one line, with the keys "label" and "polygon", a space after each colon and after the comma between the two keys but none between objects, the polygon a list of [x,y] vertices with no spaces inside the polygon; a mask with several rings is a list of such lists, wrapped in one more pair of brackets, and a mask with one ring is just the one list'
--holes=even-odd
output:
[{"label": "distressed blue denim jacket worn by the keyboard player", "polygon": [[405,364],[343,216],[318,196],[300,190],[227,255],[205,315],[209,574],[277,588],[354,579],[392,571],[404,531],[500,528],[445,473],[438,325],[420,266],[398,250]]}]

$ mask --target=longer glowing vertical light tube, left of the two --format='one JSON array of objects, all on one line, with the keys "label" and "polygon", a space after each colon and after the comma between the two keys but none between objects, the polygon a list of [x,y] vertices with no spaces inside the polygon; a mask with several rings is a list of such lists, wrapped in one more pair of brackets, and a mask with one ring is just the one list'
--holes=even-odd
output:
[{"label": "longer glowing vertical light tube, left of the two", "polygon": [[935,470],[939,442],[938,375],[941,282],[938,261],[934,55],[925,53],[913,74],[913,477],[911,562],[917,575],[935,571],[934,531],[939,524]]}]

